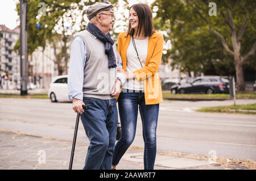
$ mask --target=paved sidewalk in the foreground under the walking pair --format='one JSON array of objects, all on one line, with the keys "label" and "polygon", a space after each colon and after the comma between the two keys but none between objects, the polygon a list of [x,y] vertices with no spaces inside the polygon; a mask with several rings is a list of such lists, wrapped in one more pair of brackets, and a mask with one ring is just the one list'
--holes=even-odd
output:
[{"label": "paved sidewalk in the foreground under the walking pair", "polygon": [[[51,138],[29,136],[12,132],[0,132],[0,169],[27,170],[67,170],[72,142]],[[73,169],[84,166],[88,145],[77,142]],[[193,158],[194,157],[194,158]],[[209,158],[189,156],[171,151],[158,151],[155,161],[156,170],[173,169],[251,169],[246,162],[212,163]],[[218,160],[217,160],[218,161]],[[130,148],[121,159],[119,170],[142,170],[143,148]]]}]

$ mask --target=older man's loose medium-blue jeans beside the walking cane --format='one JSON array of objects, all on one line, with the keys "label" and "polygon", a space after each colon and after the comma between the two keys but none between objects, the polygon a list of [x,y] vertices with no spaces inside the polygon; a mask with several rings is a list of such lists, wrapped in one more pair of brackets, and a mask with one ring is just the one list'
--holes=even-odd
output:
[{"label": "older man's loose medium-blue jeans beside the walking cane", "polygon": [[90,141],[84,169],[110,170],[117,132],[117,104],[115,99],[95,98],[84,98],[84,103],[89,110],[80,117]]}]

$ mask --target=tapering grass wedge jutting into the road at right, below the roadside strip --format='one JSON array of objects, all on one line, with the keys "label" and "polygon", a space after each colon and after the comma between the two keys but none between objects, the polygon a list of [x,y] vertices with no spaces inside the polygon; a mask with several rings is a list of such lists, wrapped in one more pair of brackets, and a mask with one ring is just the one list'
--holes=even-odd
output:
[{"label": "tapering grass wedge jutting into the road at right, below the roadside strip", "polygon": [[240,104],[236,106],[216,106],[216,107],[204,107],[200,112],[225,112],[225,113],[245,113],[245,114],[256,114],[256,103],[255,104]]}]

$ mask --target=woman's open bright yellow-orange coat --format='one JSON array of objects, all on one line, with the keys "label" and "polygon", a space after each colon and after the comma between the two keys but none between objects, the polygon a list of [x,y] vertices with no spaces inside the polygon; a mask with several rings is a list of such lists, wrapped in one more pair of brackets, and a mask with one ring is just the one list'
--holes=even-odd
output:
[{"label": "woman's open bright yellow-orange coat", "polygon": [[[117,50],[122,58],[123,70],[126,71],[126,53],[131,36],[122,32],[118,36]],[[148,37],[147,58],[145,66],[134,71],[138,82],[144,81],[144,97],[146,104],[158,104],[163,102],[162,86],[158,74],[158,68],[162,59],[163,35],[157,31]],[[118,99],[118,97],[117,97]]]}]

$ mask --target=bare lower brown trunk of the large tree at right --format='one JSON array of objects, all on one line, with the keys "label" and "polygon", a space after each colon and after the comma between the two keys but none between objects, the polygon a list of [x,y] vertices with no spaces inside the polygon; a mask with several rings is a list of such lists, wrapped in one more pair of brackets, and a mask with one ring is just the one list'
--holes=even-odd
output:
[{"label": "bare lower brown trunk of the large tree at right", "polygon": [[236,76],[237,76],[237,91],[241,92],[245,90],[245,81],[243,79],[243,57],[239,54],[234,55],[234,64],[236,67]]}]

